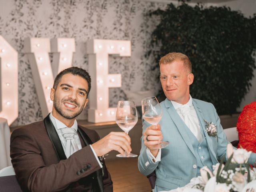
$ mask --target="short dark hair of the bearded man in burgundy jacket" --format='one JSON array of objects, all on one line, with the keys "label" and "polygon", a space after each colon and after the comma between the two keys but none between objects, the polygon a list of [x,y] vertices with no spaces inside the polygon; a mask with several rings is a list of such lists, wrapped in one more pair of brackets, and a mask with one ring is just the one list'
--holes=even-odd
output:
[{"label": "short dark hair of the bearded man in burgundy jacket", "polygon": [[78,75],[87,81],[87,83],[88,83],[87,97],[88,97],[88,94],[91,90],[91,77],[86,70],[79,68],[79,67],[70,67],[70,68],[66,68],[66,69],[62,70],[54,79],[53,88],[56,90],[58,84],[60,83],[60,79],[62,78],[62,76],[65,74],[68,74],[68,73],[71,73],[73,75]]}]

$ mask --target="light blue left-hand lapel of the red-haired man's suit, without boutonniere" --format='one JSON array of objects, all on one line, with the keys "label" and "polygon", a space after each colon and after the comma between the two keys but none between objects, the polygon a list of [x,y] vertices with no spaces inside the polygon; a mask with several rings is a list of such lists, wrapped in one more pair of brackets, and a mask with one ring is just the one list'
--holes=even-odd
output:
[{"label": "light blue left-hand lapel of the red-haired man's suit, without boutonniere", "polygon": [[190,142],[190,138],[188,137],[188,134],[186,132],[186,124],[182,121],[182,119],[180,118],[180,116],[176,112],[174,106],[172,105],[172,102],[170,102],[167,98],[164,102],[165,102],[165,106],[167,108],[167,112],[170,115],[170,117],[172,118],[172,120],[173,120],[174,124],[176,125],[178,131],[180,132],[180,135],[182,136],[184,142],[186,143],[186,145],[188,146],[190,151],[195,156],[192,143]]}]

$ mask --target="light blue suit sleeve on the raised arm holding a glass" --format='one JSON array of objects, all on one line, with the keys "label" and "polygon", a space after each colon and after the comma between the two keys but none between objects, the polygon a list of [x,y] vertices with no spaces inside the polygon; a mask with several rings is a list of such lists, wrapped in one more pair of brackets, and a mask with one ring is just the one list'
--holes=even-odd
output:
[{"label": "light blue suit sleeve on the raised arm holding a glass", "polygon": [[146,128],[150,126],[150,124],[146,122],[143,118],[142,118],[142,124],[143,124],[142,126],[143,130],[142,130],[142,137],[140,138],[141,150],[138,158],[138,168],[142,174],[147,176],[152,172],[154,172],[154,170],[158,166],[159,161],[154,163],[153,160],[150,158],[150,156],[148,156],[147,154],[147,147],[144,145],[143,133],[146,130]]}]

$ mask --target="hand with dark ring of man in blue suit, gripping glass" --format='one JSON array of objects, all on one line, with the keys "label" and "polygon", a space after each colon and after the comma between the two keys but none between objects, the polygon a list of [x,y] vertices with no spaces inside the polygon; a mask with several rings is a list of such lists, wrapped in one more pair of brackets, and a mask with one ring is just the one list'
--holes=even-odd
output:
[{"label": "hand with dark ring of man in blue suit, gripping glass", "polygon": [[[160,125],[151,125],[146,128],[143,133],[144,144],[150,150],[154,157],[157,156],[160,142],[163,139],[162,132],[160,131]],[[148,137],[148,140],[146,139]]]}]

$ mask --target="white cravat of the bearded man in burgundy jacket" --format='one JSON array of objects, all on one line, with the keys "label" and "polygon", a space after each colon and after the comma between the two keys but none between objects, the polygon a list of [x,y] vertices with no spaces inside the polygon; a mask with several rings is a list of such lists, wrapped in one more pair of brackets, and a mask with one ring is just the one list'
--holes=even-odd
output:
[{"label": "white cravat of the bearded man in burgundy jacket", "polygon": [[61,128],[63,137],[66,140],[65,154],[67,158],[74,152],[78,151],[78,146],[75,141],[76,130],[74,128]]}]

